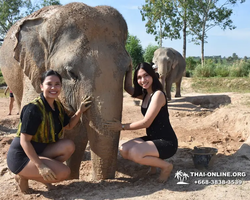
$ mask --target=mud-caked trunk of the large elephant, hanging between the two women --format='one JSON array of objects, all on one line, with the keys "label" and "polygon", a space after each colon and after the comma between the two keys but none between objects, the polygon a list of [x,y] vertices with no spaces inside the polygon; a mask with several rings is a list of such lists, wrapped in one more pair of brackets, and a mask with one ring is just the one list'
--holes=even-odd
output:
[{"label": "mud-caked trunk of the large elephant, hanging between the two women", "polygon": [[110,93],[103,90],[105,94],[96,97],[95,103],[91,106],[91,116],[89,116],[91,120],[87,126],[87,133],[91,148],[94,180],[115,177],[120,133],[119,131],[110,131],[105,127],[107,121],[121,120],[122,88],[119,86],[114,90],[116,92]]}]

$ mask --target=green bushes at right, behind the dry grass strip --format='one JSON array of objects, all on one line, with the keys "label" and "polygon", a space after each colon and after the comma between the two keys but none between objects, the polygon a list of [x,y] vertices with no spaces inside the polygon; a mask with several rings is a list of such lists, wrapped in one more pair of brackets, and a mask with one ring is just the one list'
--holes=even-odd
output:
[{"label": "green bushes at right, behind the dry grass strip", "polygon": [[186,59],[186,76],[193,77],[250,77],[250,61],[215,62],[207,59],[204,65],[192,57]]}]

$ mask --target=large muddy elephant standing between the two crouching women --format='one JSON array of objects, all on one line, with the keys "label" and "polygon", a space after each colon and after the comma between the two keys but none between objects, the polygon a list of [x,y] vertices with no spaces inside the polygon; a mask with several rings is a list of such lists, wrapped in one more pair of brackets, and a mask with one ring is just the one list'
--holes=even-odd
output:
[{"label": "large muddy elephant standing between the two crouching women", "polygon": [[67,162],[71,178],[79,178],[88,142],[93,179],[114,178],[119,132],[107,130],[103,122],[121,119],[123,78],[131,65],[127,34],[127,24],[114,8],[70,3],[44,7],[21,19],[4,39],[0,67],[20,108],[41,92],[39,77],[48,69],[63,78],[59,100],[69,115],[82,97],[94,97],[77,127],[65,132],[76,144]]}]

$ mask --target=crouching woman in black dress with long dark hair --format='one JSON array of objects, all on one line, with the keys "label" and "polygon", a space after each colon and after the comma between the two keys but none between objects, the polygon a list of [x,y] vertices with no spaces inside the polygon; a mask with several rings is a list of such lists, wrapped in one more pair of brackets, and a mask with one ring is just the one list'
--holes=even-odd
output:
[{"label": "crouching woman in black dress with long dark hair", "polygon": [[144,118],[128,124],[121,124],[115,120],[107,122],[106,126],[116,131],[146,128],[147,136],[122,144],[120,153],[125,159],[151,166],[150,173],[155,173],[156,167],[159,167],[159,181],[165,182],[173,169],[173,164],[164,159],[172,157],[178,148],[178,140],[169,121],[166,95],[154,69],[148,63],[137,66],[133,83],[134,87],[130,70],[126,74],[124,87],[132,97],[143,100],[141,112]]}]

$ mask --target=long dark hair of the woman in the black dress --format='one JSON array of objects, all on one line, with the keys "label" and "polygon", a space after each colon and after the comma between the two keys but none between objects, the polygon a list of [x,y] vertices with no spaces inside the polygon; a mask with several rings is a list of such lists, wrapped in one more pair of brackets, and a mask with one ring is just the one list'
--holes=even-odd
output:
[{"label": "long dark hair of the woman in the black dress", "polygon": [[134,78],[133,78],[134,94],[132,95],[132,97],[138,97],[138,96],[140,96],[142,94],[147,93],[147,90],[143,89],[138,84],[137,73],[138,73],[139,69],[145,70],[147,72],[147,74],[153,78],[152,90],[154,92],[157,91],[157,90],[163,91],[162,84],[159,81],[154,69],[152,68],[152,65],[150,65],[149,63],[143,62],[143,63],[140,63],[139,65],[137,65],[137,67],[135,68]]}]

